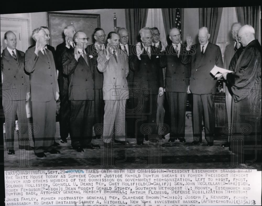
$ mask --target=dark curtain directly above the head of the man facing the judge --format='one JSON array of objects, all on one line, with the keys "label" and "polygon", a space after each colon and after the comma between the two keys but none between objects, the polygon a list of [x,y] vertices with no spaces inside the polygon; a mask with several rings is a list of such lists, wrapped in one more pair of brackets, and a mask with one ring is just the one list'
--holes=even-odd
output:
[{"label": "dark curtain directly above the head of the man facing the judge", "polygon": [[205,26],[210,33],[209,42],[215,44],[223,8],[199,8],[199,28]]}]

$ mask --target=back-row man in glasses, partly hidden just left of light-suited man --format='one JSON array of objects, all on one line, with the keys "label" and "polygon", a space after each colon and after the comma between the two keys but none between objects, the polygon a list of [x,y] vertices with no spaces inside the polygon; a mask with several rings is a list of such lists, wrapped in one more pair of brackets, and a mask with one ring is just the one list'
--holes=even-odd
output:
[{"label": "back-row man in glasses, partly hidden just left of light-suited man", "polygon": [[103,73],[97,69],[97,57],[101,50],[105,49],[105,32],[101,28],[94,30],[94,38],[96,42],[87,47],[88,54],[92,55],[95,63],[95,120],[94,120],[94,131],[95,139],[100,139],[101,134],[98,131],[97,125],[103,124],[104,115],[104,101],[103,101]]}]

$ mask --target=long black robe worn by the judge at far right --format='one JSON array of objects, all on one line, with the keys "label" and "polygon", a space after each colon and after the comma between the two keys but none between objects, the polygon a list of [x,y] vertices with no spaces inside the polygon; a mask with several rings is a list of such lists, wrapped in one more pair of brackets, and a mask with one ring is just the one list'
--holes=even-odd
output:
[{"label": "long black robe worn by the judge at far right", "polygon": [[227,74],[233,94],[232,151],[240,149],[244,155],[242,163],[261,162],[261,45],[258,40],[251,41],[242,53],[237,52],[230,66],[234,67],[234,72]]}]

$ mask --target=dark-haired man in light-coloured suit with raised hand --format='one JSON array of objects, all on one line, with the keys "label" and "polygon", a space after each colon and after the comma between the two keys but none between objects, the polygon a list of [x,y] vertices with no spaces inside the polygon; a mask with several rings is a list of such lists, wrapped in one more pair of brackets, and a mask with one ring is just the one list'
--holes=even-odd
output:
[{"label": "dark-haired man in light-coloured suit with raised hand", "polygon": [[[103,141],[106,147],[114,142],[123,145],[125,141],[125,104],[128,99],[128,58],[119,49],[119,36],[110,32],[107,36],[107,48],[100,51],[97,58],[97,68],[103,72],[103,99],[105,100]],[[113,133],[112,128],[117,129]],[[119,132],[116,132],[119,131]]]}]

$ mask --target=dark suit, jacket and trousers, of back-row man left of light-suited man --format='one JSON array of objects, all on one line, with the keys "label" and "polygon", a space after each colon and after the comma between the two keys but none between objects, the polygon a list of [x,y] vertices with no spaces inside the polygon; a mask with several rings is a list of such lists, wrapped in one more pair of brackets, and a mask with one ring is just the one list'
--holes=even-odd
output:
[{"label": "dark suit, jacket and trousers, of back-row man left of light-suited man", "polygon": [[[103,73],[97,69],[97,57],[99,54],[98,45],[92,44],[87,47],[88,55],[92,55],[94,64],[95,64],[95,120],[94,125],[103,124],[103,115],[104,115],[104,101],[103,101]],[[94,127],[95,134],[97,137],[100,137],[101,134],[97,130],[98,127]]]}]

